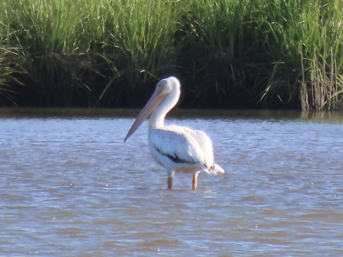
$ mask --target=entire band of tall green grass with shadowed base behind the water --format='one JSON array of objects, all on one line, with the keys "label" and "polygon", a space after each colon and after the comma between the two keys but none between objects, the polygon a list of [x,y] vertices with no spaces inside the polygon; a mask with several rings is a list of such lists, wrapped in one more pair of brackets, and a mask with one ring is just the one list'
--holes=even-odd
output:
[{"label": "entire band of tall green grass with shadowed base behind the water", "polygon": [[342,109],[340,0],[4,0],[0,105]]}]

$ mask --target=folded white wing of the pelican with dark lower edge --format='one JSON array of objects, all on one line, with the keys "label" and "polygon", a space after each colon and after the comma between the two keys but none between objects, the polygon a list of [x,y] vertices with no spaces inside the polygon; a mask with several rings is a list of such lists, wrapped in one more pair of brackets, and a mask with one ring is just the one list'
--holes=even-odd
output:
[{"label": "folded white wing of the pelican with dark lower edge", "polygon": [[[206,135],[203,139],[204,135],[201,131],[173,125],[153,130],[150,137],[157,151],[175,163],[199,164],[209,172],[208,168],[213,166],[212,143]],[[209,149],[204,149],[206,146]]]}]

